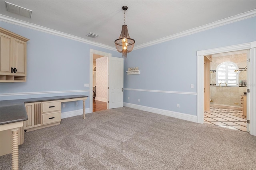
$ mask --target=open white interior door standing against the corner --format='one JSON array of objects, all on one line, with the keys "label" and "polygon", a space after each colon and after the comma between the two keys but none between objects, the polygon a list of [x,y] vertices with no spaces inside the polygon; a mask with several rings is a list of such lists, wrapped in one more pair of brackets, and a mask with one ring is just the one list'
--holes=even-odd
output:
[{"label": "open white interior door standing against the corner", "polygon": [[108,58],[108,103],[107,109],[124,107],[124,59]]}]

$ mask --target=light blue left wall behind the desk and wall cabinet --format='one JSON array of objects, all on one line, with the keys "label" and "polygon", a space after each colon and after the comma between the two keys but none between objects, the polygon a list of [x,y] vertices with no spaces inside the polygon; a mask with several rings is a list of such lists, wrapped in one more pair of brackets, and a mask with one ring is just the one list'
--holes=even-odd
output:
[{"label": "light blue left wall behind the desk and wall cabinet", "polygon": [[[90,81],[90,49],[112,53],[112,56],[115,57],[122,57],[117,51],[88,45],[11,23],[1,21],[0,26],[30,39],[27,42],[26,82],[0,83],[1,94],[87,90],[87,92],[79,93],[1,96],[0,100],[78,94],[89,96],[89,87],[84,87],[84,84]],[[62,108],[62,112],[82,108],[82,101],[79,101],[78,106],[75,106],[75,102],[68,102],[66,107]],[[86,100],[86,108],[89,108],[89,99]]]}]

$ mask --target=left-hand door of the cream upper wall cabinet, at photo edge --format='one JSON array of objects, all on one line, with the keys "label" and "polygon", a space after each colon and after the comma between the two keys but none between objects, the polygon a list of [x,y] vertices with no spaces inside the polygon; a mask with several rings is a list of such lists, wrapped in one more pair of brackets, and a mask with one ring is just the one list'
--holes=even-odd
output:
[{"label": "left-hand door of the cream upper wall cabinet, at photo edge", "polygon": [[0,74],[13,75],[13,53],[12,53],[12,38],[8,35],[1,34],[0,48]]}]

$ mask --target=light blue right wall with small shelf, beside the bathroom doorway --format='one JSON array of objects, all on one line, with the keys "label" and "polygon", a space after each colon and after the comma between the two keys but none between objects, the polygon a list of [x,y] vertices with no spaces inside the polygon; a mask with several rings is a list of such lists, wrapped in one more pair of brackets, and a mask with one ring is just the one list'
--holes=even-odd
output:
[{"label": "light blue right wall with small shelf, beside the bathroom doorway", "polygon": [[[124,102],[196,115],[196,52],[251,41],[256,41],[256,17],[134,50],[124,61]],[[140,74],[127,75],[129,67],[139,67]]]}]

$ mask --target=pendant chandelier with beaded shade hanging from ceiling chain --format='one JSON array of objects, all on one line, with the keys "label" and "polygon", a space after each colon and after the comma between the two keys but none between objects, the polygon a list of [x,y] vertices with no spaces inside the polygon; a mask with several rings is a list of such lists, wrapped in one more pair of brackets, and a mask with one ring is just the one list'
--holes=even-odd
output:
[{"label": "pendant chandelier with beaded shade hanging from ceiling chain", "polygon": [[125,11],[128,7],[123,6],[122,9],[124,10],[124,25],[122,26],[120,37],[116,39],[115,44],[117,51],[122,53],[123,58],[126,59],[127,53],[130,53],[134,47],[135,40],[130,38],[127,25],[125,25]]}]

